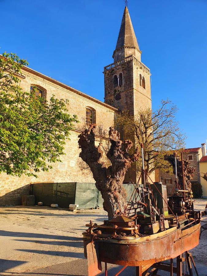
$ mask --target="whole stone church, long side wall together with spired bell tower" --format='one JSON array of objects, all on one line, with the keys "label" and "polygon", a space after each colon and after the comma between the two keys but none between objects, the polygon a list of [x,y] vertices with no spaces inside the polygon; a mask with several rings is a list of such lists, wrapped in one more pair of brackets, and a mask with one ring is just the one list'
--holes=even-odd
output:
[{"label": "whole stone church, long side wall together with spired bell tower", "polygon": [[[53,169],[38,173],[38,178],[19,177],[1,174],[0,206],[13,203],[21,204],[21,196],[29,193],[31,183],[80,182],[94,183],[92,173],[79,157],[78,135],[91,123],[97,124],[96,143],[102,143],[106,152],[109,148],[109,127],[122,110],[136,115],[140,108],[151,108],[150,70],[141,62],[141,51],[134,33],[127,7],[125,7],[121,28],[113,52],[113,63],[104,67],[105,100],[101,102],[70,86],[52,79],[28,67],[23,67],[21,87],[29,91],[33,86],[39,95],[48,101],[52,94],[56,98],[69,100],[70,114],[76,114],[80,121],[71,131],[66,141],[62,163],[52,164]],[[100,68],[101,70],[101,68]],[[100,72],[101,73],[101,72]],[[127,138],[127,137],[124,137]],[[137,181],[136,165],[128,172],[133,181]],[[126,176],[126,182],[130,179]]]}]

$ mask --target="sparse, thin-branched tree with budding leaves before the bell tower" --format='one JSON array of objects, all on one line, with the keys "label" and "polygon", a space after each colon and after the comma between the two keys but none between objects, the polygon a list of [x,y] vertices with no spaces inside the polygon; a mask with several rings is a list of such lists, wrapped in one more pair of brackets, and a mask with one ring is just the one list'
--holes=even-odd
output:
[{"label": "sparse, thin-branched tree with budding leaves before the bell tower", "polygon": [[[135,144],[144,145],[145,170],[151,174],[156,169],[172,173],[172,166],[165,156],[174,150],[179,153],[185,146],[185,135],[175,120],[178,108],[171,101],[162,101],[156,111],[140,109],[136,116],[122,113],[116,118],[116,125],[123,128],[124,136],[135,137]],[[137,162],[141,170],[141,157]]]}]

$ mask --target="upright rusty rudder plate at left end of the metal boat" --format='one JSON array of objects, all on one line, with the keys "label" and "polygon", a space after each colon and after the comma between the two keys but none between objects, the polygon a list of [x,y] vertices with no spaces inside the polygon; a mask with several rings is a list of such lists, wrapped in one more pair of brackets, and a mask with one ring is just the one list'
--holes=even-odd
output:
[{"label": "upright rusty rudder plate at left end of the metal boat", "polygon": [[88,275],[95,276],[102,272],[101,261],[98,260],[97,252],[93,242],[86,245],[87,260],[88,260]]}]

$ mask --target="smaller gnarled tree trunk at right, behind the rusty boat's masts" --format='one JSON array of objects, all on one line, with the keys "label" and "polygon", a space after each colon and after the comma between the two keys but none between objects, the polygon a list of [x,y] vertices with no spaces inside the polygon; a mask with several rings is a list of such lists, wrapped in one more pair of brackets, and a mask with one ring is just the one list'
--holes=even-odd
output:
[{"label": "smaller gnarled tree trunk at right, behind the rusty boat's masts", "polygon": [[[166,155],[165,159],[172,165],[173,173],[175,174],[175,157],[174,154]],[[177,159],[177,175],[178,175],[178,185],[183,189],[183,180],[182,180],[182,162],[179,156]],[[185,178],[185,188],[189,191],[191,190],[191,180],[193,179],[195,168],[190,166],[190,161],[188,159],[183,160],[183,169],[184,169],[184,178]]]}]

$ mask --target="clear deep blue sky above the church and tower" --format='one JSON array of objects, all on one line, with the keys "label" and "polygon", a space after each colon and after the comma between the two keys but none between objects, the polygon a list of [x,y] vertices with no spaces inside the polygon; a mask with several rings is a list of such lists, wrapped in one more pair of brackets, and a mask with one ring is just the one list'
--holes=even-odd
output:
[{"label": "clear deep blue sky above the church and tower", "polygon": [[[123,0],[0,0],[0,52],[103,101],[103,67],[112,63]],[[207,138],[207,1],[129,0],[128,10],[151,70],[152,107],[169,98],[186,147]]]}]

